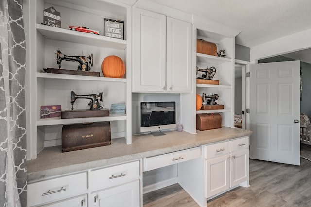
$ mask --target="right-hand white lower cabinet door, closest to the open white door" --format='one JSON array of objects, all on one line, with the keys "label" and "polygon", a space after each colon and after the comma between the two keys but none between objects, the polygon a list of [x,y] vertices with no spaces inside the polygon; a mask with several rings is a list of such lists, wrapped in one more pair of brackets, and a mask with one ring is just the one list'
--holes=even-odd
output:
[{"label": "right-hand white lower cabinet door, closest to the open white door", "polygon": [[249,177],[248,149],[230,154],[230,187],[241,184]]}]

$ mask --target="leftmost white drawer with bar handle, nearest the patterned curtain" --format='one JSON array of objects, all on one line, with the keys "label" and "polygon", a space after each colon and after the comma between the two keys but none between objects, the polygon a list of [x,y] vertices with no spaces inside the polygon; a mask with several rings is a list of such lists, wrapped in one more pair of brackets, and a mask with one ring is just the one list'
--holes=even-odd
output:
[{"label": "leftmost white drawer with bar handle, nearest the patterned curtain", "polygon": [[86,172],[30,183],[27,185],[27,206],[82,194],[87,190],[86,183]]}]

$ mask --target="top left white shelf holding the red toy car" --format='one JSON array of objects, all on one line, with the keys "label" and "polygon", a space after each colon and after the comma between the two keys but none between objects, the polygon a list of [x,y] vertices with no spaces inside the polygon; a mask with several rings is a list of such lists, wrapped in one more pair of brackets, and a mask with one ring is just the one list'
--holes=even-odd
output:
[{"label": "top left white shelf holding the red toy car", "polygon": [[61,40],[65,42],[80,43],[85,45],[93,45],[121,50],[125,50],[126,48],[126,40],[121,40],[117,38],[51,27],[44,24],[37,24],[37,30],[42,34],[44,38],[47,39]]}]

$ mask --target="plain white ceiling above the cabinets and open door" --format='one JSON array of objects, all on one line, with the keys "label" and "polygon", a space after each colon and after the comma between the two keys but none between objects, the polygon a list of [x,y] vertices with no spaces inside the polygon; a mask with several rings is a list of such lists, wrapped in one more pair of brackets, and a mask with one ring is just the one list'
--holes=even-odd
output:
[{"label": "plain white ceiling above the cabinets and open door", "polygon": [[253,47],[311,28],[311,0],[152,0],[238,29]]}]

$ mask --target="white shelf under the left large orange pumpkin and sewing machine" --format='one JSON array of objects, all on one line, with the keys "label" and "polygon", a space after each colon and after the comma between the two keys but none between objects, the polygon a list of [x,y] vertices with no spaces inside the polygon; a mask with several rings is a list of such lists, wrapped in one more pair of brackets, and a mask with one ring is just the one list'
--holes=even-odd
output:
[{"label": "white shelf under the left large orange pumpkin and sewing machine", "polygon": [[126,79],[123,79],[123,78],[80,76],[80,75],[45,73],[45,72],[37,72],[37,78],[63,79],[63,80],[64,79],[65,80],[90,80],[90,81],[107,81],[107,82],[126,82]]}]

